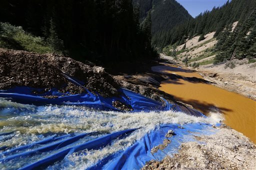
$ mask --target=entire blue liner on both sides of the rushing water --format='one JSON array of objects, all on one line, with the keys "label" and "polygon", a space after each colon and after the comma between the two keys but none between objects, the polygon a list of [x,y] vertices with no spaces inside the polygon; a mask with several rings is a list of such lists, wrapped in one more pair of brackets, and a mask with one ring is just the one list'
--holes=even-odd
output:
[{"label": "entire blue liner on both sides of the rushing water", "polygon": [[[70,78],[67,76],[67,78]],[[76,80],[70,78],[70,81],[80,85]],[[80,85],[81,86],[81,85]],[[28,87],[15,87],[8,90],[0,90],[0,97],[9,98],[10,100],[23,104],[33,105],[82,105],[89,108],[100,110],[113,110],[120,111],[112,106],[113,101],[120,101],[125,105],[129,105],[132,108],[132,112],[149,112],[149,111],[177,111],[185,112],[194,116],[203,116],[200,112],[179,106],[176,104],[170,104],[166,100],[164,104],[158,101],[154,101],[140,94],[133,93],[129,90],[120,88],[118,97],[103,98],[98,94],[92,94],[87,89],[87,93],[68,95],[57,91],[57,89],[51,89],[48,92],[35,94],[34,91],[43,91],[43,89],[28,88]],[[58,98],[47,99],[42,96],[53,95]],[[152,159],[161,160],[167,153],[176,151],[177,147],[182,142],[183,137],[189,136],[190,132],[201,131],[209,125],[201,124],[188,124],[184,125],[185,129],[177,128],[178,125],[161,125],[157,129],[145,134],[145,136],[135,142],[132,146],[128,147],[124,151],[119,151],[112,154],[98,163],[93,165],[90,169],[107,169],[107,170],[130,170],[140,169],[147,161]],[[157,152],[151,155],[150,150],[163,142],[165,134],[168,130],[174,130],[176,136],[173,136],[172,141],[163,152]],[[96,150],[107,145],[111,145],[113,140],[120,139],[123,136],[129,135],[136,129],[128,129],[112,134],[107,134],[100,137],[93,137],[90,140],[82,142],[83,138],[93,136],[93,134],[66,134],[62,136],[52,135],[41,141],[34,142],[32,144],[20,146],[17,148],[11,148],[0,153],[0,162],[5,163],[9,161],[21,161],[22,159],[34,157],[34,155],[42,154],[42,157],[37,161],[31,161],[20,168],[21,170],[31,170],[37,168],[45,168],[55,162],[63,160],[68,155],[79,152],[82,150]],[[190,132],[187,132],[189,130]],[[13,132],[0,134],[1,137],[8,136],[6,139],[11,139]],[[184,140],[184,141],[187,141]],[[1,147],[1,150],[6,148]],[[48,153],[43,155],[43,153]],[[32,159],[33,160],[33,159]]]}]

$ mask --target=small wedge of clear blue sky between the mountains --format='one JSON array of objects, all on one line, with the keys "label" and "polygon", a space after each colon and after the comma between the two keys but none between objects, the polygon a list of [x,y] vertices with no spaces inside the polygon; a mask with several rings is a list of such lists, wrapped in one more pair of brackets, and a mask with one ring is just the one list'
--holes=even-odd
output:
[{"label": "small wedge of clear blue sky between the mountains", "polygon": [[222,6],[227,0],[176,0],[190,15],[197,16],[205,10],[211,10],[213,6]]}]

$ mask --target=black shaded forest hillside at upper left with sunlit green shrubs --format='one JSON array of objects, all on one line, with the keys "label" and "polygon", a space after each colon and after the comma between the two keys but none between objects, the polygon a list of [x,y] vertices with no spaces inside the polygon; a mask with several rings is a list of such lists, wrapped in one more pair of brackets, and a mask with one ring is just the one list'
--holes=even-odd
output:
[{"label": "black shaded forest hillside at upper left with sunlit green shrubs", "polygon": [[0,22],[10,23],[1,24],[0,47],[33,51],[29,44],[39,39],[40,53],[53,51],[81,61],[157,56],[131,0],[1,0]]}]

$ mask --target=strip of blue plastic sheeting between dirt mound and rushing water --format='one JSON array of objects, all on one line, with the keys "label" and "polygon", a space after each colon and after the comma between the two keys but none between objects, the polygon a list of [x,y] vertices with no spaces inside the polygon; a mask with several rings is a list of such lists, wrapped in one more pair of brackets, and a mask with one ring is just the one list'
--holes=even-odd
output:
[{"label": "strip of blue plastic sheeting between dirt mound and rushing water", "polygon": [[[1,90],[0,97],[10,98],[14,102],[22,104],[34,104],[34,105],[46,105],[46,104],[56,104],[56,105],[83,105],[95,109],[101,110],[115,110],[119,109],[112,106],[112,102],[115,100],[120,101],[125,105],[132,107],[133,111],[150,111],[159,110],[166,111],[170,110],[170,104],[166,101],[162,106],[162,103],[154,101],[152,99],[146,98],[142,95],[133,93],[126,89],[119,89],[120,96],[112,98],[103,98],[100,95],[94,95],[90,93],[68,95],[59,93],[56,89],[52,89],[46,93],[41,93],[36,95],[34,91],[42,91],[43,89],[35,89],[28,87],[15,87],[9,90]],[[42,96],[58,96],[58,98],[47,99]]]}]

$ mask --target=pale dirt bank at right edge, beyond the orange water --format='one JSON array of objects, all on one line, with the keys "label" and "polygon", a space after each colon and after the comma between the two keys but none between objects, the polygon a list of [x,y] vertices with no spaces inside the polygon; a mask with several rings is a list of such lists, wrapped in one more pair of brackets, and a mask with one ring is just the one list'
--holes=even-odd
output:
[{"label": "pale dirt bank at right edge, beyond the orange water", "polygon": [[241,94],[256,101],[256,63],[248,64],[247,59],[233,60],[234,68],[226,63],[200,66],[198,71],[205,80],[231,92]]}]

